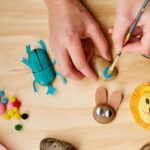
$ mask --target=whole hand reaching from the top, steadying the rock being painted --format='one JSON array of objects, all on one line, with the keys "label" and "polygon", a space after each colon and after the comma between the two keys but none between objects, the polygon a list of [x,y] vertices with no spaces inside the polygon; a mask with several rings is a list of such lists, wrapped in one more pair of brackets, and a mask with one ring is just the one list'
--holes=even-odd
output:
[{"label": "whole hand reaching from the top, steadying the rock being painted", "polygon": [[107,41],[96,20],[79,0],[45,0],[49,10],[50,47],[64,76],[97,79],[82,42],[90,38],[99,54],[111,60]]}]

